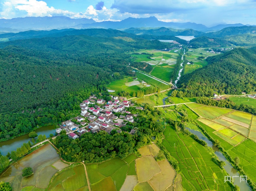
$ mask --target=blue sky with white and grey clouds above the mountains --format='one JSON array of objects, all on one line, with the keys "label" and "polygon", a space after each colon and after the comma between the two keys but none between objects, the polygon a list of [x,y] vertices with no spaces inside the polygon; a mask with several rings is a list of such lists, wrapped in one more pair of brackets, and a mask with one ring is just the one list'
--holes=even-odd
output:
[{"label": "blue sky with white and grey clouds above the mountains", "polygon": [[0,0],[0,18],[67,16],[100,21],[155,16],[166,22],[256,25],[256,0]]}]

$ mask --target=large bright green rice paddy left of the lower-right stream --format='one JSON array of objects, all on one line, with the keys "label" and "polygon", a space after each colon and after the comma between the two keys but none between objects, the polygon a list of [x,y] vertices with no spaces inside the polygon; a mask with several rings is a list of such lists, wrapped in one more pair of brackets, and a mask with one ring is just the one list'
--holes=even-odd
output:
[{"label": "large bright green rice paddy left of the lower-right stream", "polygon": [[190,190],[231,190],[224,183],[226,172],[212,160],[211,155],[191,137],[176,133],[172,126],[165,126],[162,144],[179,162],[182,187]]}]

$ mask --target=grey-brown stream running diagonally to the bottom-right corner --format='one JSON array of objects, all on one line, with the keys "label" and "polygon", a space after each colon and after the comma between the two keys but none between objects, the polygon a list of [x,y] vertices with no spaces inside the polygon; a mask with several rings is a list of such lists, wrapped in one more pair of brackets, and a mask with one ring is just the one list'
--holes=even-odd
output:
[{"label": "grey-brown stream running diagonally to the bottom-right corner", "polygon": [[224,157],[224,155],[220,152],[220,150],[217,147],[213,146],[212,142],[209,141],[206,136],[204,136],[200,131],[196,131],[196,130],[189,129],[189,128],[187,128],[187,129],[190,133],[193,133],[194,135],[197,135],[199,139],[205,141],[207,143],[207,146],[211,147],[213,149],[213,151],[215,151],[214,153],[217,155],[219,160],[222,160],[226,163],[226,165],[224,166],[224,169],[229,174],[229,176],[231,176],[231,177],[236,176],[234,178],[234,185],[239,186],[241,191],[242,190],[243,191],[251,191],[252,190],[252,188],[249,186],[249,184],[247,182],[245,182],[245,181],[240,182],[240,177],[239,177],[239,173],[237,172],[237,170]]}]

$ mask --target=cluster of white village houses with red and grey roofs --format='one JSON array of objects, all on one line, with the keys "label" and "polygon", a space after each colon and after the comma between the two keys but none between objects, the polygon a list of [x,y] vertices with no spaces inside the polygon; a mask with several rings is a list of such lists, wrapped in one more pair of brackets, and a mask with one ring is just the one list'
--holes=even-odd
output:
[{"label": "cluster of white village houses with red and grey roofs", "polygon": [[[86,132],[106,131],[111,134],[115,129],[117,133],[121,133],[120,128],[127,122],[133,123],[133,117],[137,117],[138,114],[127,111],[127,108],[134,107],[134,104],[127,101],[125,97],[118,98],[112,95],[110,97],[111,100],[107,103],[103,99],[97,99],[95,95],[84,100],[80,103],[81,114],[72,120],[62,122],[60,128],[56,129],[56,134],[59,135],[65,130],[69,138],[76,139]],[[136,109],[143,110],[143,107],[136,107]],[[132,129],[130,134],[133,135],[136,129],[136,127]]]}]

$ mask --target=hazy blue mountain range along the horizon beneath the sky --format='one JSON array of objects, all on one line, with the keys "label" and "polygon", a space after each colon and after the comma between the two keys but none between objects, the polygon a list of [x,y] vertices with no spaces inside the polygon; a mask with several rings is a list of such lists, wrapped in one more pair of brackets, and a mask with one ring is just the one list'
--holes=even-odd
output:
[{"label": "hazy blue mountain range along the horizon beneath the sky", "polygon": [[52,17],[24,17],[12,19],[0,19],[0,32],[20,32],[27,30],[51,30],[64,28],[112,28],[112,29],[128,29],[131,27],[171,27],[175,29],[193,29],[197,31],[216,31],[229,26],[244,26],[243,24],[221,24],[213,27],[207,27],[202,24],[191,22],[163,22],[156,17],[149,18],[126,18],[122,21],[102,21],[95,22],[93,19],[87,18],[69,18],[65,16]]}]

